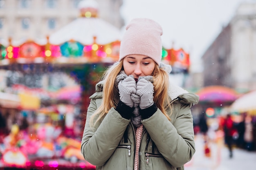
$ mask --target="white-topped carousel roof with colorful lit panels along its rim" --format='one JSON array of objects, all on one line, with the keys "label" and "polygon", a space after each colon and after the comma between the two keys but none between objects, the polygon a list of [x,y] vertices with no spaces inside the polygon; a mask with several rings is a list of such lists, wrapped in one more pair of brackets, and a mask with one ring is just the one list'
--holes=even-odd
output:
[{"label": "white-topped carousel roof with colorful lit panels along its rim", "polygon": [[0,65],[11,63],[82,64],[115,62],[121,31],[98,18],[94,0],[79,3],[80,17],[41,40],[0,40]]}]

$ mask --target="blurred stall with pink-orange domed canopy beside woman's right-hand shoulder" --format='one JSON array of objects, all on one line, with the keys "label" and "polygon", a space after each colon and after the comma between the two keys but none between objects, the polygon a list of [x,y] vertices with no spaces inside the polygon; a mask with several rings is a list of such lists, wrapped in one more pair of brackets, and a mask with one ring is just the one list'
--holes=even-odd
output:
[{"label": "blurred stall with pink-orange domed canopy beside woman's right-hand shoulder", "polygon": [[195,94],[200,97],[199,103],[193,106],[195,133],[220,130],[223,117],[229,113],[229,106],[241,95],[225,86],[206,86]]}]

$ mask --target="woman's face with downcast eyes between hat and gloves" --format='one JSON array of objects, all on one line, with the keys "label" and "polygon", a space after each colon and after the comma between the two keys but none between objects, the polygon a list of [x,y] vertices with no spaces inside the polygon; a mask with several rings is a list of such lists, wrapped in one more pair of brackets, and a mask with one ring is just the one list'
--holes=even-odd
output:
[{"label": "woman's face with downcast eyes between hat and gloves", "polygon": [[146,55],[128,55],[124,57],[124,72],[133,75],[135,80],[140,76],[152,75],[155,61]]}]

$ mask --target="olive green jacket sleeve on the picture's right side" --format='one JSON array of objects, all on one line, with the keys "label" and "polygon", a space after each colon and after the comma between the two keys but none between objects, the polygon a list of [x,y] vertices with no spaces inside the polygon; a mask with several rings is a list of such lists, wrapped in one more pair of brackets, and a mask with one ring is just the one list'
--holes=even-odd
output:
[{"label": "olive green jacket sleeve on the picture's right side", "polygon": [[172,166],[181,167],[195,153],[193,117],[189,104],[176,105],[171,116],[173,124],[159,109],[142,124],[164,158]]}]

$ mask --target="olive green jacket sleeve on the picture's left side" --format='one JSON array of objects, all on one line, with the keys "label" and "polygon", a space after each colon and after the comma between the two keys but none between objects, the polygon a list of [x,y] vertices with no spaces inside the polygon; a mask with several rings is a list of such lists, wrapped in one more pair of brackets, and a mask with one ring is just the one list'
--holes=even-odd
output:
[{"label": "olive green jacket sleeve on the picture's left side", "polygon": [[111,108],[103,120],[90,127],[90,117],[97,109],[97,100],[101,99],[91,99],[88,107],[81,152],[86,161],[102,166],[117,148],[130,120],[124,119],[114,108]]}]

